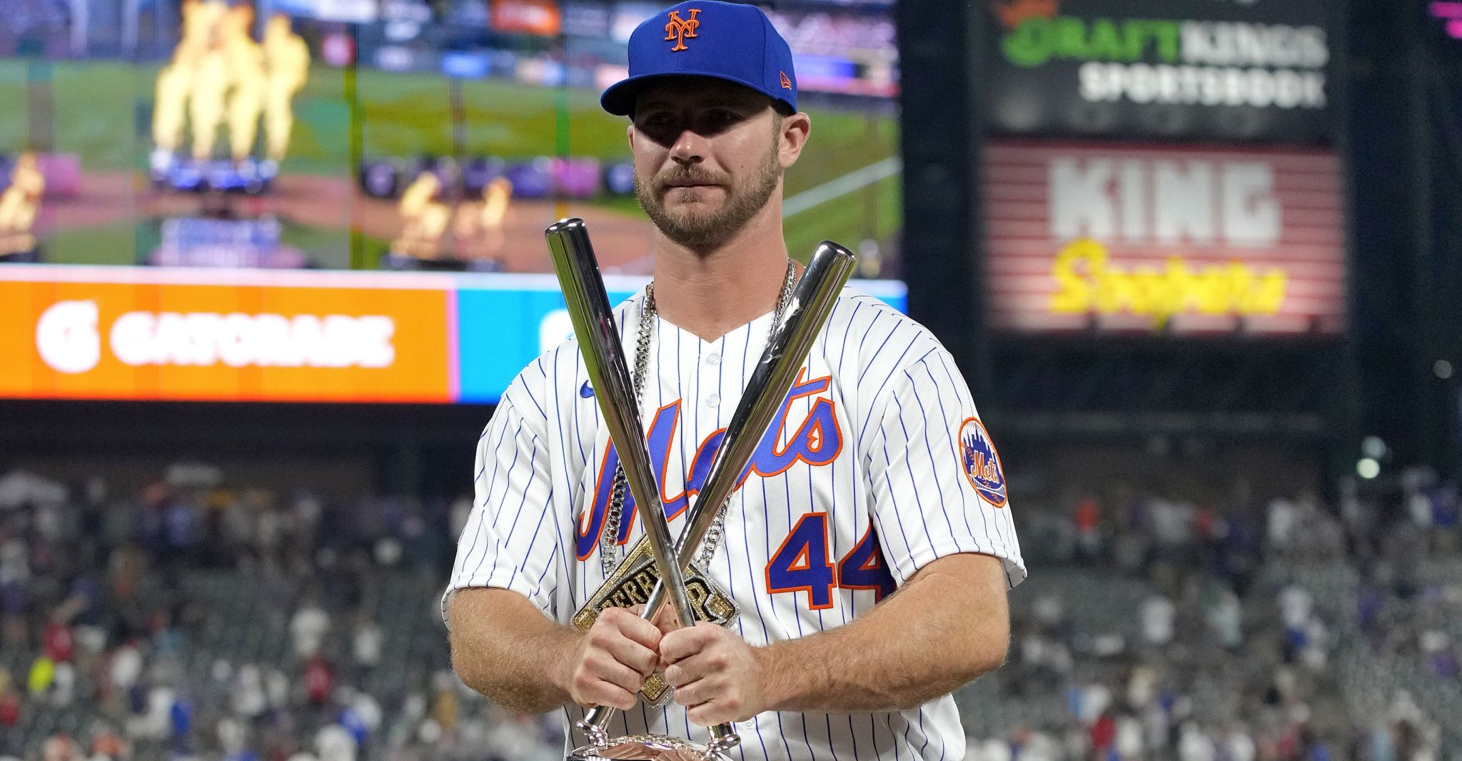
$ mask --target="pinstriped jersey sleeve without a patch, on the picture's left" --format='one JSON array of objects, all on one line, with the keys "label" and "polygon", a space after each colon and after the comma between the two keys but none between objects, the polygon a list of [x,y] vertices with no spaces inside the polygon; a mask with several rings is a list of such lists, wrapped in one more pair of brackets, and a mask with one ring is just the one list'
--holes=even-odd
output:
[{"label": "pinstriped jersey sleeve without a patch, on the picture's left", "polygon": [[529,396],[520,380],[515,383],[478,438],[474,505],[442,597],[443,619],[452,594],[466,587],[518,592],[557,619],[553,593],[560,538],[551,514],[547,418]]}]

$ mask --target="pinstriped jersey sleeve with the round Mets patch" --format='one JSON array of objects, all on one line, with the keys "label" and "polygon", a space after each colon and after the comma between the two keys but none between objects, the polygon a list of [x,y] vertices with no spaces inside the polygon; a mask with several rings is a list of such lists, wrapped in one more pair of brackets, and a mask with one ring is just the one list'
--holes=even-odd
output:
[{"label": "pinstriped jersey sleeve with the round Mets patch", "polygon": [[904,584],[944,555],[980,552],[1025,580],[1004,472],[953,358],[942,346],[905,367],[870,422],[873,521],[893,578]]}]

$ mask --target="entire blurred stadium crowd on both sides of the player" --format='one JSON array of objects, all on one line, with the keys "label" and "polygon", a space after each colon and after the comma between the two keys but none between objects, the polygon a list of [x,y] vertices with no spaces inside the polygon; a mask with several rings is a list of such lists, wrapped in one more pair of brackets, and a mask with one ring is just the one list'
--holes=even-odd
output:
[{"label": "entire blurred stadium crowd on both sides of the player", "polygon": [[[0,761],[561,758],[557,716],[450,672],[436,594],[466,500],[209,466],[113,491],[0,478]],[[1458,489],[1336,492],[1022,501],[1032,574],[1009,663],[959,695],[969,758],[1462,758]]]}]

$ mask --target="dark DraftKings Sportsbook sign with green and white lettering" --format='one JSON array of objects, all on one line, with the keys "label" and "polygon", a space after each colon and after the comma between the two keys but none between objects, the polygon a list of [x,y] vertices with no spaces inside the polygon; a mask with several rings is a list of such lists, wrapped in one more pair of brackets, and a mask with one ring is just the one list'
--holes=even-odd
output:
[{"label": "dark DraftKings Sportsbook sign with green and white lettering", "polygon": [[1326,0],[982,0],[1000,134],[1323,143]]}]

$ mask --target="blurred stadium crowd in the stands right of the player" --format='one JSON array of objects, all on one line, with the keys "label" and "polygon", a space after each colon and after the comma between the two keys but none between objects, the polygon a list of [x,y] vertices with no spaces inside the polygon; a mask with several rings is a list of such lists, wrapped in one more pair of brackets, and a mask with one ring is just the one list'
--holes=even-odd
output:
[{"label": "blurred stadium crowd in the stands right of the player", "polygon": [[987,727],[972,758],[1462,758],[1458,488],[1411,470],[1336,492],[1023,504],[1037,584],[1016,594],[996,700],[1064,710]]}]

